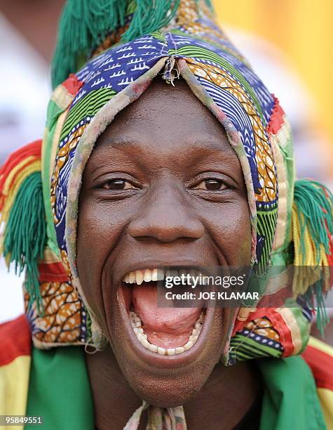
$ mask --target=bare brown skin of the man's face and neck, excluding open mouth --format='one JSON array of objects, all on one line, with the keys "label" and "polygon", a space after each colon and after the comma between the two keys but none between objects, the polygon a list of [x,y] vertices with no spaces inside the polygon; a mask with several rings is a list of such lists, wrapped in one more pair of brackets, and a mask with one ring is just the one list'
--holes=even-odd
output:
[{"label": "bare brown skin of the man's face and neck, excluding open mouth", "polygon": [[141,399],[184,405],[193,430],[236,426],[257,382],[247,363],[219,361],[231,310],[208,309],[189,351],[158,356],[135,338],[118,288],[142,268],[250,264],[238,157],[184,82],[156,79],[98,139],[83,174],[77,245],[83,292],[111,345],[87,355],[97,428],[123,428]]}]

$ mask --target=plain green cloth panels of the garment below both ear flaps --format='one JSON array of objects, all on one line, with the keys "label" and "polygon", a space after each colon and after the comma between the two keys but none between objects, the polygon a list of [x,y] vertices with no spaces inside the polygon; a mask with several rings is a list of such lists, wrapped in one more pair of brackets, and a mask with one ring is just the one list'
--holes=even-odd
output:
[{"label": "plain green cloth panels of the garment below both ear flaps", "polygon": [[[84,350],[33,348],[27,415],[43,430],[93,430],[94,410]],[[257,360],[264,386],[261,430],[326,429],[315,381],[303,358]],[[209,429],[208,429],[209,430]]]}]

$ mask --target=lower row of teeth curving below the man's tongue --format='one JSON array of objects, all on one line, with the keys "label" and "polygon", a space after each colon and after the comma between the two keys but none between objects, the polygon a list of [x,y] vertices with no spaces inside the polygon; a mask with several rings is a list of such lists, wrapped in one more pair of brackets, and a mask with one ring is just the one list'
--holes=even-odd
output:
[{"label": "lower row of teeth curving below the man's tongue", "polygon": [[133,311],[130,311],[130,325],[132,325],[132,329],[135,332],[135,336],[137,340],[140,341],[140,344],[144,346],[144,348],[149,349],[149,351],[160,354],[161,356],[175,356],[176,354],[181,354],[184,351],[192,348],[196,341],[198,340],[199,334],[203,327],[203,319],[204,315],[201,313],[198,320],[196,320],[196,324],[191,332],[189,340],[184,346],[178,346],[177,348],[161,348],[161,346],[156,346],[154,344],[149,343],[147,340],[147,334],[144,334],[144,330],[142,328],[142,323],[137,314]]}]

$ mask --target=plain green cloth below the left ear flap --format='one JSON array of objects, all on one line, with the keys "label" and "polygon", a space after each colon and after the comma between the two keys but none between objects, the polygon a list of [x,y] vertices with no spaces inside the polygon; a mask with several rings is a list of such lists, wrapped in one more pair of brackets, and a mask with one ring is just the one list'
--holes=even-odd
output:
[{"label": "plain green cloth below the left ear flap", "polygon": [[32,349],[27,413],[42,416],[43,430],[93,430],[93,397],[84,350],[78,346]]}]

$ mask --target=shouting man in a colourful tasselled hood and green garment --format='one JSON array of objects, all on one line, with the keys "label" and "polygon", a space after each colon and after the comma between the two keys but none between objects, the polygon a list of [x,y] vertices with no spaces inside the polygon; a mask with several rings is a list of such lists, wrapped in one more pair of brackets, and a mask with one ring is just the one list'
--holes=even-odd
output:
[{"label": "shouting man in a colourful tasselled hood and green garment", "polygon": [[[332,195],[294,181],[284,112],[210,2],[69,1],[53,84],[43,142],[0,171],[27,308],[0,327],[0,414],[46,429],[331,425],[333,354],[306,346],[313,297],[325,324]],[[160,308],[170,266],[250,266],[259,299]]]}]

